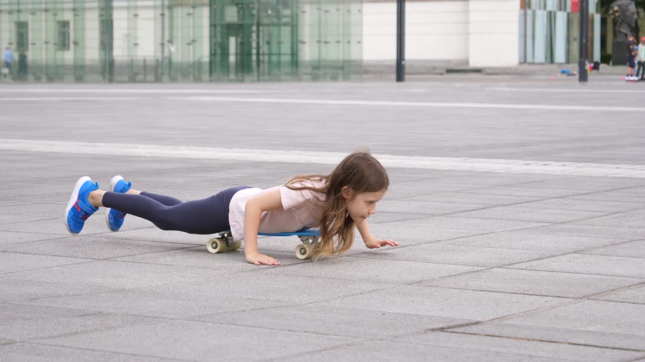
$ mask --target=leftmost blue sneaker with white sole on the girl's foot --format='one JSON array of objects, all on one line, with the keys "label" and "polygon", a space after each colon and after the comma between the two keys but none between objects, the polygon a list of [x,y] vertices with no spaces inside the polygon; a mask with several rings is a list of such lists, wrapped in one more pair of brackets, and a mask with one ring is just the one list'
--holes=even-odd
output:
[{"label": "leftmost blue sneaker with white sole on the girl's foot", "polygon": [[98,182],[92,182],[92,178],[83,176],[74,185],[74,191],[70,196],[70,202],[65,209],[65,227],[71,234],[78,234],[83,230],[85,220],[92,216],[99,208],[92,206],[87,196],[94,190],[99,189]]}]

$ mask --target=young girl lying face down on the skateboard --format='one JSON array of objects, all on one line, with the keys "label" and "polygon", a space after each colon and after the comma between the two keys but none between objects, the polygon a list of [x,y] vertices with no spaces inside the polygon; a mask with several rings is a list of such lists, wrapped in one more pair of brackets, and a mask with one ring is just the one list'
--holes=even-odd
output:
[{"label": "young girl lying face down on the skateboard", "polygon": [[[126,214],[149,220],[162,230],[215,234],[230,230],[233,240],[244,241],[246,262],[280,265],[257,251],[257,233],[294,232],[318,227],[321,242],[313,258],[338,254],[352,247],[354,226],[366,247],[399,243],[372,236],[367,218],[376,213],[390,180],[385,168],[370,153],[354,152],[330,175],[295,176],[284,186],[262,190],[249,186],[226,189],[217,195],[181,202],[176,198],[132,189],[132,183],[114,176],[110,191],[99,189],[88,176],[79,178],[65,209],[67,230],[78,234],[85,220],[99,207],[109,207],[106,224],[119,231]],[[335,242],[334,242],[335,239]]]}]

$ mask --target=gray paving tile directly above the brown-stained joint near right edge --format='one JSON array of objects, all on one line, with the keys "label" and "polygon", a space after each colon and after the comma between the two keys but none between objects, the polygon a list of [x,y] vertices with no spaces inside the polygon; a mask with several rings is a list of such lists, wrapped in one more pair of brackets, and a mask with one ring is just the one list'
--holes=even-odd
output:
[{"label": "gray paving tile directly above the brown-stained joint near right edge", "polygon": [[640,278],[575,274],[569,272],[526,271],[519,269],[488,269],[468,274],[423,281],[422,285],[470,289],[475,291],[509,292],[542,296],[582,298],[645,281]]}]

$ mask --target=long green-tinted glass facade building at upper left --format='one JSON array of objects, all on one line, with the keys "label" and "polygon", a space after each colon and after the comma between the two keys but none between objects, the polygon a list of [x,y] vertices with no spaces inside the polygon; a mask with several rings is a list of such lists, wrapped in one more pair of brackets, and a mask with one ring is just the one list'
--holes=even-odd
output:
[{"label": "long green-tinted glass facade building at upper left", "polygon": [[362,1],[0,0],[0,44],[30,82],[355,79]]}]

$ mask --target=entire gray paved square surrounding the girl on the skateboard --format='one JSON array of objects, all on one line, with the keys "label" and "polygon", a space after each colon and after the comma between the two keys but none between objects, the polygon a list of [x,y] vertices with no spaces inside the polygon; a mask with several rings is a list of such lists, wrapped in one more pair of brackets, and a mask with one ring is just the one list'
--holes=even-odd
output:
[{"label": "entire gray paved square surrounding the girl on the skateboard", "polygon": [[[0,361],[645,359],[641,85],[5,85]],[[264,237],[283,265],[256,267],[134,216],[63,225],[79,176],[193,200],[362,146],[391,180],[370,228],[399,247],[314,263]]]}]

